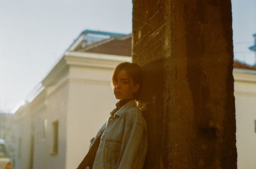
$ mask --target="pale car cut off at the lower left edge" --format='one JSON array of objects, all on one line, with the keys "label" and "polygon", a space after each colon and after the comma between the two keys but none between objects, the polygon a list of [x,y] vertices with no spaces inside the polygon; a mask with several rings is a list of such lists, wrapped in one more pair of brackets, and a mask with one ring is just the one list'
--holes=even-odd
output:
[{"label": "pale car cut off at the lower left edge", "polygon": [[0,138],[0,169],[12,169],[12,159],[6,151],[5,142]]}]

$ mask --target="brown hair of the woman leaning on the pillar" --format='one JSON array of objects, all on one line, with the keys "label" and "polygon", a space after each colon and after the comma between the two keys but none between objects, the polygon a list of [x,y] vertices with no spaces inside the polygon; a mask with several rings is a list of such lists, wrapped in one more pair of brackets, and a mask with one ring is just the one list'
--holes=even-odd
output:
[{"label": "brown hair of the woman leaning on the pillar", "polygon": [[[115,85],[115,77],[122,70],[125,70],[127,72],[128,77],[132,78],[134,84],[139,84],[141,88],[141,78],[142,78],[141,69],[138,64],[133,62],[122,62],[116,66],[115,70],[113,70],[113,74],[111,78],[112,85]],[[134,99],[138,99],[140,88],[138,89],[138,91],[134,92]]]}]

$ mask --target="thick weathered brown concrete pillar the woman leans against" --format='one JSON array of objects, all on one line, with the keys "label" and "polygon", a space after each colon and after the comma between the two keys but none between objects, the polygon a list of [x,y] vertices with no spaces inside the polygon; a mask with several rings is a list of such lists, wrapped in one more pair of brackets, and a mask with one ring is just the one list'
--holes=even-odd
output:
[{"label": "thick weathered brown concrete pillar the woman leans against", "polygon": [[237,168],[232,15],[227,0],[133,0],[148,169]]}]

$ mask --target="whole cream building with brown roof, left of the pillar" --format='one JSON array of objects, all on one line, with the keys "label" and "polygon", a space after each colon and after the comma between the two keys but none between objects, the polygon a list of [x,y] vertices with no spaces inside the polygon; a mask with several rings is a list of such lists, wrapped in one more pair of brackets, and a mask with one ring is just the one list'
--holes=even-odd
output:
[{"label": "whole cream building with brown roof, left of the pillar", "polygon": [[[118,50],[108,47],[131,41],[131,35],[114,35],[109,33],[110,38],[84,48],[81,43],[88,33],[81,34],[77,38],[80,43],[71,45],[32,92],[29,103],[16,111],[17,169],[74,169],[82,161],[91,138],[115,108],[110,83],[113,68],[131,61],[131,57],[118,55]],[[131,50],[127,52],[131,55]]]}]

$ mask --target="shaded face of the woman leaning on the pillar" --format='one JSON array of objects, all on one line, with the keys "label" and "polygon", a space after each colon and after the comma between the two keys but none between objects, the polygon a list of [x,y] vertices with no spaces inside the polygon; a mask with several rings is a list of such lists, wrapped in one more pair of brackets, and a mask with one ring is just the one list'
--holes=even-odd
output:
[{"label": "shaded face of the woman leaning on the pillar", "polygon": [[113,82],[113,93],[116,99],[131,99],[133,93],[138,91],[139,84],[134,84],[132,78],[129,78],[125,70],[119,71]]}]

